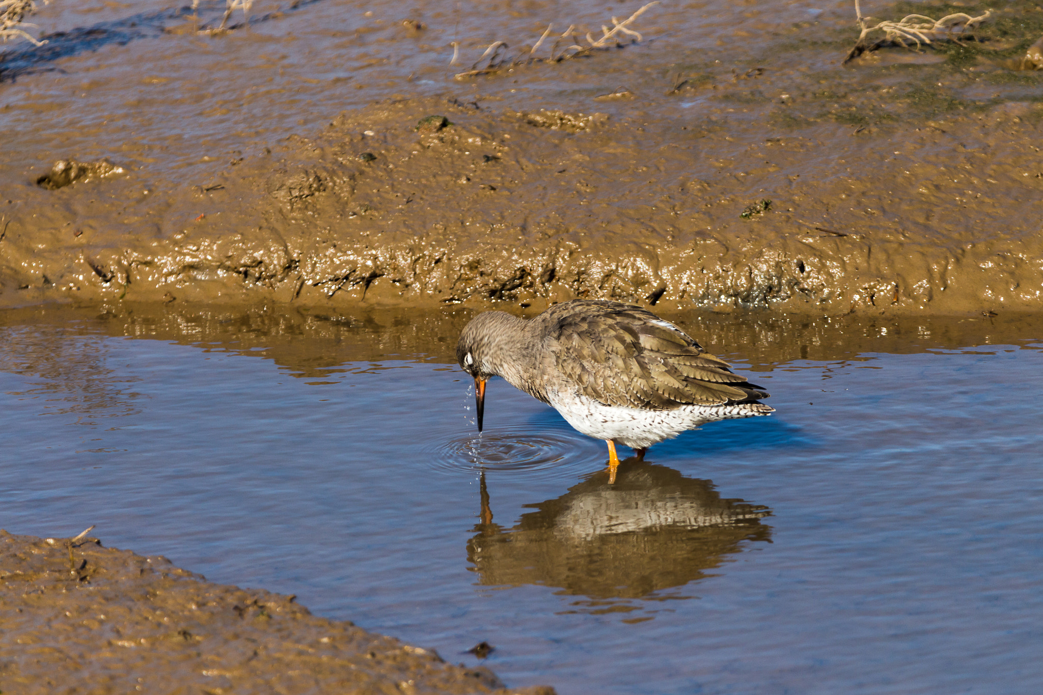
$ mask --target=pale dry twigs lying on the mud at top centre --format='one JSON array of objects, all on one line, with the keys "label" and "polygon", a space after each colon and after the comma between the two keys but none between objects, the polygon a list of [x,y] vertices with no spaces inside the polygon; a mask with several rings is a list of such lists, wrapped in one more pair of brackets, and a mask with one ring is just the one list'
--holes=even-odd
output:
[{"label": "pale dry twigs lying on the mud at top centre", "polygon": [[[493,42],[488,48],[485,49],[482,56],[470,66],[470,70],[458,73],[457,77],[464,78],[474,77],[476,75],[488,75],[500,72],[501,70],[514,68],[516,66],[530,65],[533,63],[561,63],[562,60],[569,60],[582,55],[589,55],[597,50],[620,48],[629,44],[636,44],[642,40],[642,36],[640,33],[631,28],[631,23],[645,14],[649,7],[657,4],[659,4],[658,0],[650,2],[638,8],[637,11],[622,22],[613,17],[612,28],[609,29],[607,26],[602,25],[602,35],[600,38],[595,39],[589,32],[587,32],[586,46],[576,43],[576,31],[574,30],[576,26],[569,25],[569,27],[565,29],[561,35],[555,39],[554,44],[551,46],[550,54],[543,58],[537,57],[536,51],[543,46],[548,36],[551,35],[551,30],[554,28],[553,24],[547,25],[547,29],[532,47],[526,46],[514,56],[509,55],[510,45],[507,42]],[[629,41],[623,41],[624,36],[626,36]],[[567,44],[567,46],[559,52],[558,48],[563,43]],[[456,43],[453,44],[453,60],[450,61],[450,65],[455,65],[459,55],[459,47]]]}]

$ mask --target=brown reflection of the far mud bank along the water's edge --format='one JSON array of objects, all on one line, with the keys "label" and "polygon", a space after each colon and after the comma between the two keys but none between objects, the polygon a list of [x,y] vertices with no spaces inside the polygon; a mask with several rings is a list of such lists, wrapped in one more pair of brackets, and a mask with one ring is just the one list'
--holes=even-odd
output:
[{"label": "brown reflection of the far mud bank along the water's edge", "polygon": [[[425,362],[457,369],[454,347],[472,316],[471,309],[450,306],[434,312],[371,306],[325,312],[294,306],[125,303],[100,314],[90,307],[26,307],[0,311],[0,327],[23,337],[8,341],[7,349],[0,351],[0,361],[5,369],[20,374],[89,383],[81,368],[97,370],[102,363],[91,362],[90,354],[87,362],[72,358],[69,351],[82,348],[63,344],[60,337],[75,341],[79,340],[76,337],[102,333],[173,341],[271,359],[294,376],[308,379],[342,371],[344,363],[415,359],[419,354]],[[770,312],[688,312],[665,316],[710,352],[741,352],[754,370],[793,359],[865,358],[860,353],[909,354],[968,345],[1021,344],[1026,337],[1043,336],[1043,318],[1038,314],[974,318],[855,314],[807,319]],[[34,333],[50,338],[30,340]],[[121,400],[114,396],[105,398]]]}]

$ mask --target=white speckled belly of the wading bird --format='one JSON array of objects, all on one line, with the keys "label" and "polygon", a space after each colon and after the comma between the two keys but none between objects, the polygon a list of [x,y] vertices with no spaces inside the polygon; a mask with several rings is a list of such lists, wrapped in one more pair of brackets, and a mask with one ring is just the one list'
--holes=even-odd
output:
[{"label": "white speckled belly of the wading bird", "polygon": [[582,394],[548,394],[551,405],[577,430],[600,440],[612,440],[633,449],[644,449],[674,439],[706,422],[768,415],[774,408],[762,403],[732,405],[682,405],[673,411],[645,411],[605,405]]}]

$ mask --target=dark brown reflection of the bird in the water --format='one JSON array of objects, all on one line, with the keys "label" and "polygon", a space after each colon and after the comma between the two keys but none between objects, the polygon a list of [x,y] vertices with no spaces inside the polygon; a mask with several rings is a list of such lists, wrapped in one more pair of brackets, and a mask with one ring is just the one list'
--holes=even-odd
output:
[{"label": "dark brown reflection of the bird in the water", "polygon": [[492,521],[484,471],[481,504],[467,543],[480,585],[555,587],[590,605],[652,597],[708,576],[746,542],[771,542],[767,506],[722,498],[710,480],[636,458],[623,462],[612,486],[602,471],[527,505],[536,511],[510,529]]}]

